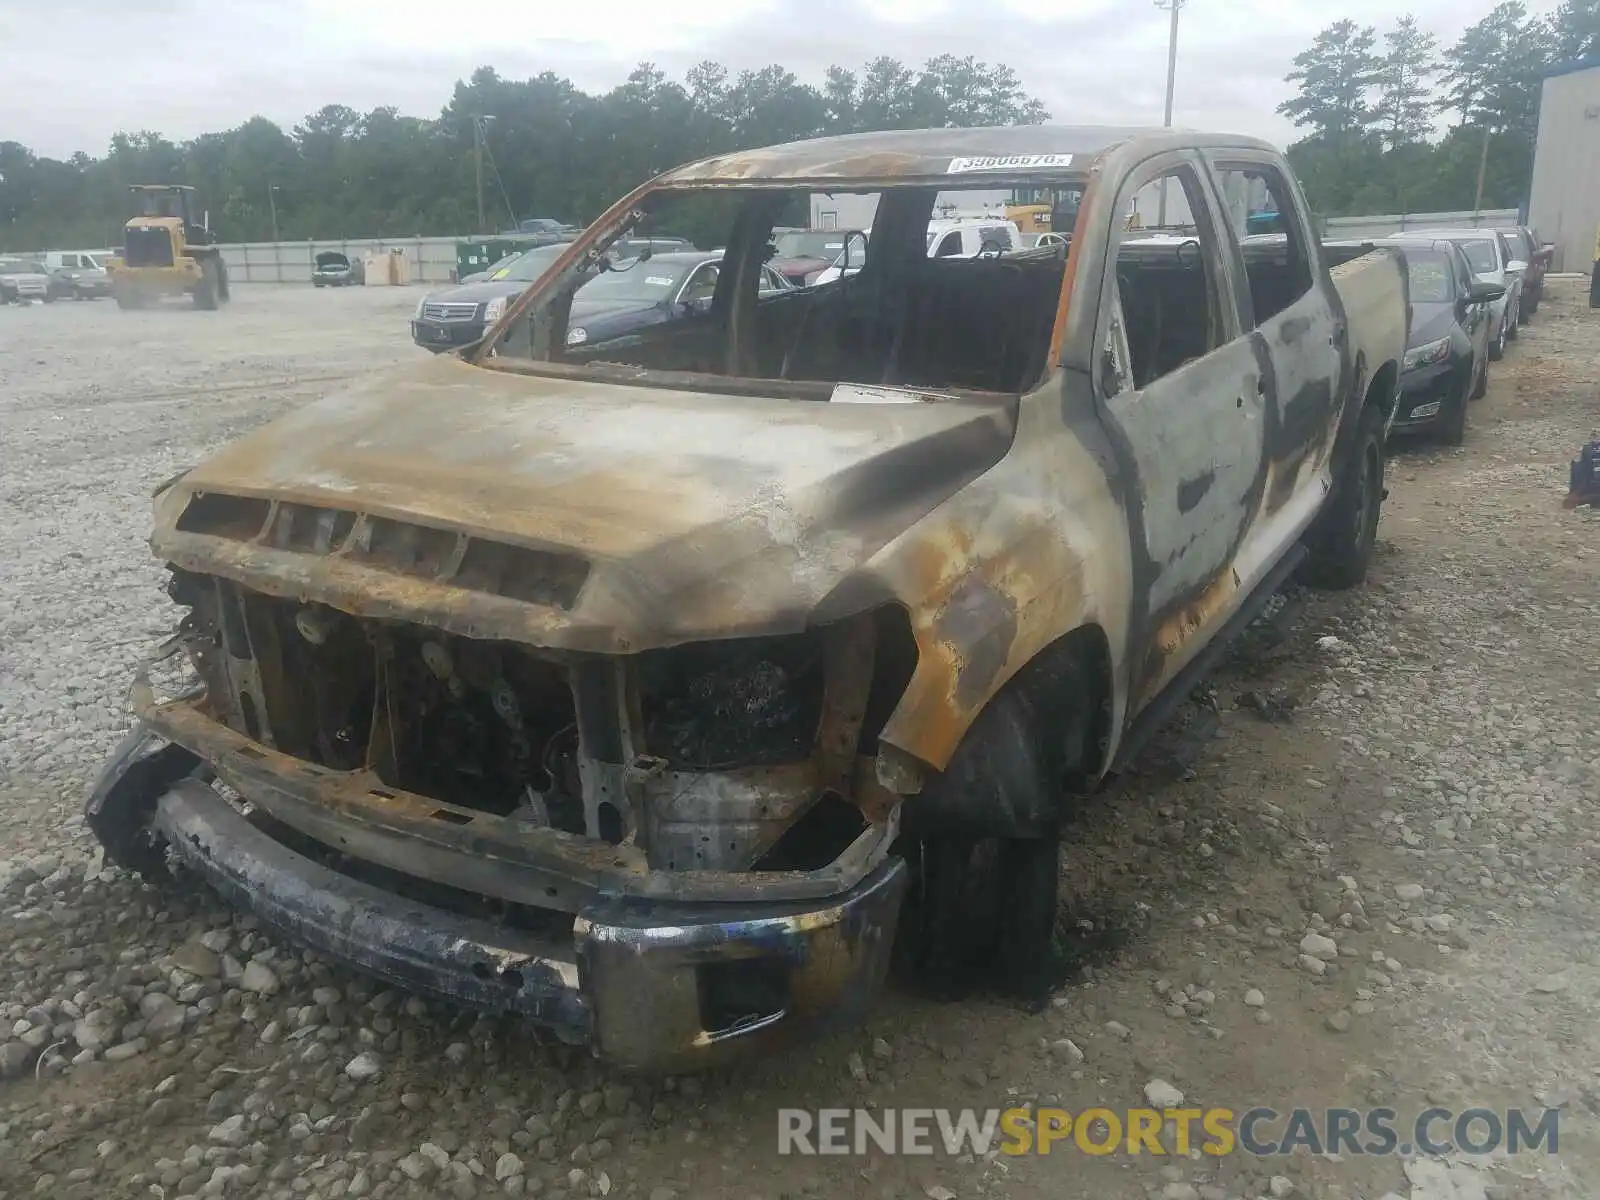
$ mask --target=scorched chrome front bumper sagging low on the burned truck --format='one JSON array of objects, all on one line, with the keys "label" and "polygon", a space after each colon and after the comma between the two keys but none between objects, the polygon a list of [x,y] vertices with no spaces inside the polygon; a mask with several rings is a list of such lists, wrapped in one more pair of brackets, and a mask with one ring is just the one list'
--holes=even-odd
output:
[{"label": "scorched chrome front bumper sagging low on the burned truck", "polygon": [[[178,758],[152,766],[163,754]],[[368,882],[366,864],[334,851],[362,838],[336,810],[317,850],[299,853],[210,784],[174,778],[194,762],[152,730],[123,744],[86,805],[114,861],[134,858],[126,842],[138,826],[282,933],[402,987],[587,1042],[621,1067],[704,1069],[770,1054],[859,1019],[888,971],[907,875],[899,858],[803,901],[661,901],[602,888],[578,909],[570,938],[534,934]],[[224,778],[246,802],[256,790],[235,773]]]}]

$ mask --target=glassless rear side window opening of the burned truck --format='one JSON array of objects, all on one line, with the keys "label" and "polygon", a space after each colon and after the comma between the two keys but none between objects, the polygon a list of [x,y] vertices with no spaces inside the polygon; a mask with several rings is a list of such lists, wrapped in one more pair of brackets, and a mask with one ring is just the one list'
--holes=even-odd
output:
[{"label": "glassless rear side window opening of the burned truck", "polygon": [[[1293,192],[1275,166],[1224,163],[1218,181],[1229,224],[1245,250],[1256,325],[1264,325],[1310,291],[1315,251],[1306,242]],[[1245,242],[1258,230],[1269,234]]]}]

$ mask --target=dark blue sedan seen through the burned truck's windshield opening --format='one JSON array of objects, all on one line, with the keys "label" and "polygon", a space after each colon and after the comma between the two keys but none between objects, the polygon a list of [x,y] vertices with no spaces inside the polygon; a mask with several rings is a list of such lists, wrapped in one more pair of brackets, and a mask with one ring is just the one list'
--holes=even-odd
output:
[{"label": "dark blue sedan seen through the burned truck's windshield opening", "polygon": [[[568,346],[592,346],[651,325],[685,320],[710,309],[722,269],[720,250],[694,250],[624,261],[589,280],[573,296]],[[770,266],[762,267],[762,296],[792,290]]]}]

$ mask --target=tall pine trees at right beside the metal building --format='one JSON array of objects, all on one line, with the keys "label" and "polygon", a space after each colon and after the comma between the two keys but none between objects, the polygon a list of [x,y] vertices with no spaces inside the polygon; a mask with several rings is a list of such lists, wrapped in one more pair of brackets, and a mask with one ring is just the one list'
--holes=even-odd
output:
[{"label": "tall pine trees at right beside the metal building", "polygon": [[1411,16],[1381,38],[1334,21],[1285,77],[1278,112],[1309,131],[1290,162],[1323,216],[1520,208],[1544,77],[1597,53],[1600,0],[1549,18],[1504,0],[1448,51]]}]

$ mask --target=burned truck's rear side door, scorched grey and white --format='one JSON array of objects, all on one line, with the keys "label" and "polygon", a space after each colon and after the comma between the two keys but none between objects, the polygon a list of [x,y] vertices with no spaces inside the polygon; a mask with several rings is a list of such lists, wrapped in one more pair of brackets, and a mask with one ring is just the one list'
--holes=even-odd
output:
[{"label": "burned truck's rear side door, scorched grey and white", "polygon": [[[1331,488],[1334,437],[1352,387],[1352,370],[1358,368],[1349,362],[1338,293],[1317,286],[1326,275],[1322,243],[1293,179],[1272,155],[1259,150],[1206,150],[1202,157],[1219,197],[1226,198],[1224,176],[1229,173],[1262,178],[1283,218],[1286,262],[1299,261],[1306,285],[1290,304],[1262,320],[1254,312],[1238,230],[1226,222],[1238,278],[1245,283],[1240,315],[1253,326],[1258,354],[1270,362],[1262,374],[1267,437],[1261,514],[1237,562],[1240,582],[1248,590],[1272,568],[1283,547],[1306,531]],[[1365,381],[1357,386],[1365,389]]]}]

